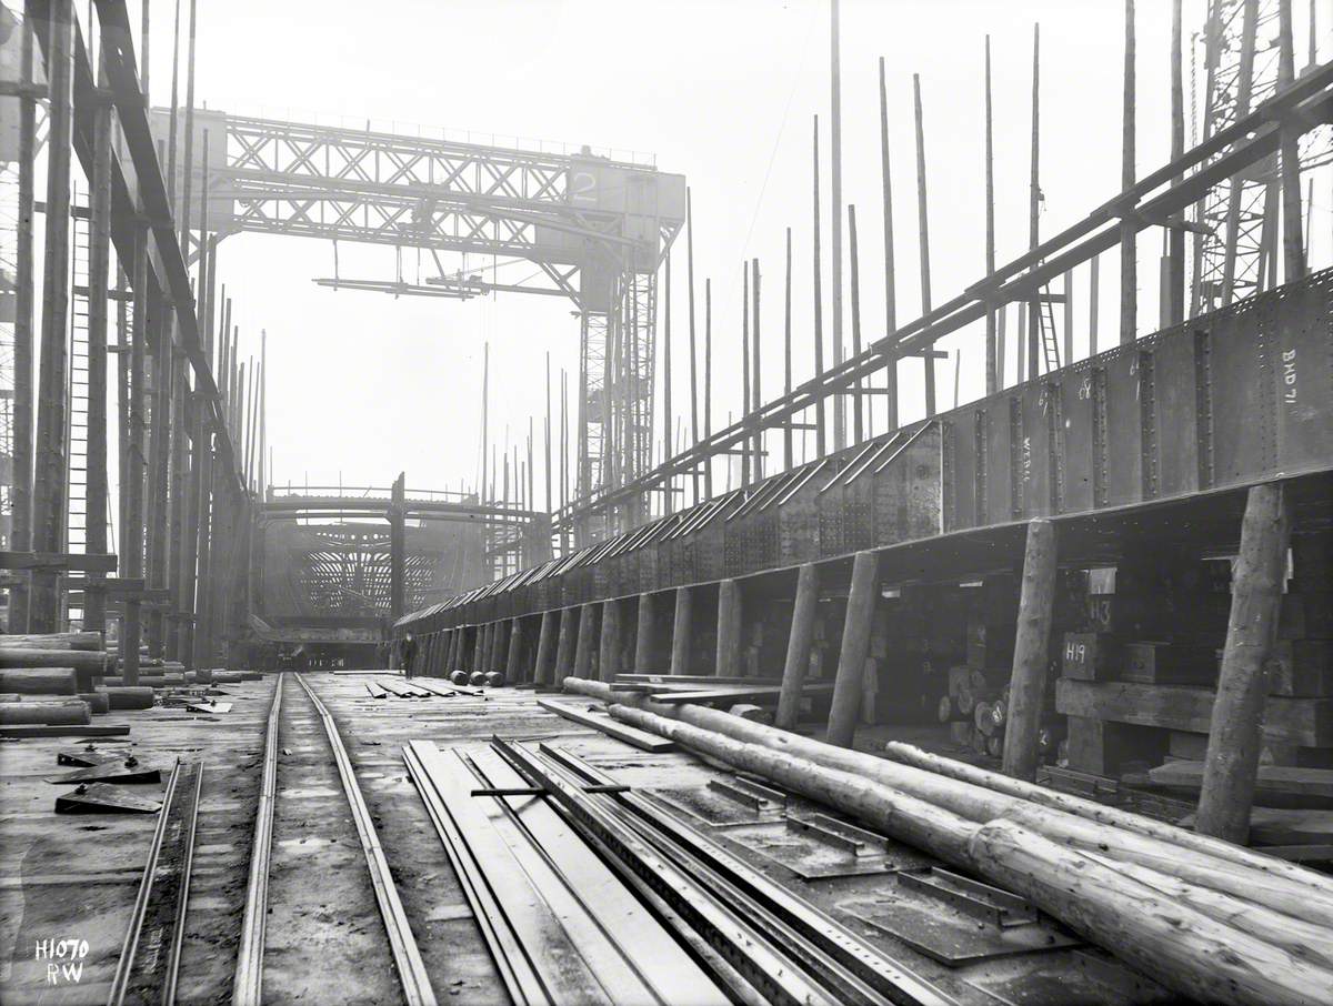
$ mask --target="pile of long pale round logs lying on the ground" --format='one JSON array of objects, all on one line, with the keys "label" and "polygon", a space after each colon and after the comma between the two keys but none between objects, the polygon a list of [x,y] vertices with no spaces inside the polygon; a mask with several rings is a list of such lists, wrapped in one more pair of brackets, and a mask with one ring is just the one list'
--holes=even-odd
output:
[{"label": "pile of long pale round logs lying on the ground", "polygon": [[704,706],[636,708],[601,682],[565,689],[1014,890],[1184,995],[1308,1003],[1333,987],[1333,879],[1321,874],[905,745],[888,761]]}]

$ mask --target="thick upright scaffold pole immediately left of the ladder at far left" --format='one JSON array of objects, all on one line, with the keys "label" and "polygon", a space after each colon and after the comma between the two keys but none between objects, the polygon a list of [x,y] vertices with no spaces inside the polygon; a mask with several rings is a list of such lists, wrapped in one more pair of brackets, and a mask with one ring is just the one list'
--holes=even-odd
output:
[{"label": "thick upright scaffold pole immediately left of the ladder at far left", "polygon": [[[33,549],[64,552],[69,406],[69,153],[73,143],[73,5],[52,0],[47,47],[47,228],[41,292],[41,360],[33,472]],[[29,632],[57,632],[59,574],[32,572]]]}]

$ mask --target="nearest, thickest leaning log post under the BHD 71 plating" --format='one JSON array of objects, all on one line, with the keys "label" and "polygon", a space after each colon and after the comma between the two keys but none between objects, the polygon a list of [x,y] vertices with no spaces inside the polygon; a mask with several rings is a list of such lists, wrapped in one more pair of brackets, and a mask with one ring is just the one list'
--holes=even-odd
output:
[{"label": "nearest, thickest leaning log post under the BHD 71 plating", "polygon": [[1196,825],[1200,834],[1241,845],[1249,838],[1264,742],[1265,665],[1277,640],[1290,534],[1282,484],[1253,486],[1241,524],[1226,649],[1217,677]]}]

